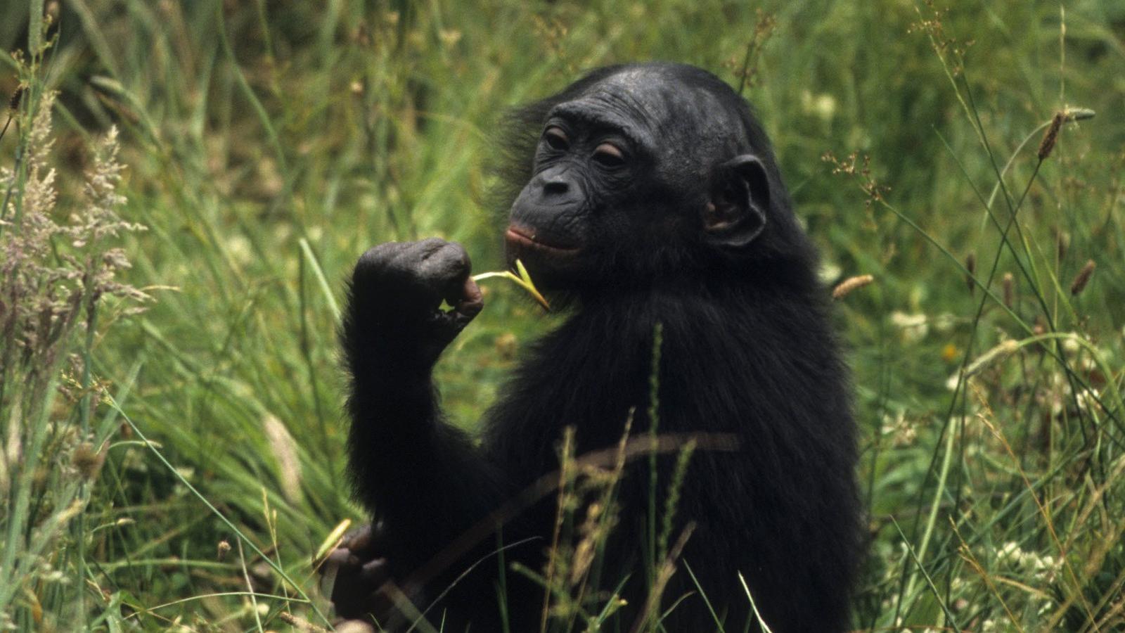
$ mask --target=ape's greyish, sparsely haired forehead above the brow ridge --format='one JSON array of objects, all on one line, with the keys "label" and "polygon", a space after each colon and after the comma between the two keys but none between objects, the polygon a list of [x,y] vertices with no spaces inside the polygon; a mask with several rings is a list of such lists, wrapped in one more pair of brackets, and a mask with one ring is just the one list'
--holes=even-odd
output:
[{"label": "ape's greyish, sparsely haired forehead above the brow ridge", "polygon": [[556,106],[552,116],[566,116],[620,130],[638,140],[728,144],[741,130],[738,113],[712,90],[687,82],[663,69],[634,68],[616,72]]}]

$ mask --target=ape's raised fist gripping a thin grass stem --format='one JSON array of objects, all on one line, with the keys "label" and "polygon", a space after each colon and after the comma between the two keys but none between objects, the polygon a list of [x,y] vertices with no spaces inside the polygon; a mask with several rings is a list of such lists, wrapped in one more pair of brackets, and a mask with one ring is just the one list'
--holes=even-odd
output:
[{"label": "ape's raised fist gripping a thin grass stem", "polygon": [[[433,363],[484,307],[470,269],[461,244],[438,238],[369,249],[352,274],[353,326],[379,328]],[[441,310],[442,301],[452,309]]]}]

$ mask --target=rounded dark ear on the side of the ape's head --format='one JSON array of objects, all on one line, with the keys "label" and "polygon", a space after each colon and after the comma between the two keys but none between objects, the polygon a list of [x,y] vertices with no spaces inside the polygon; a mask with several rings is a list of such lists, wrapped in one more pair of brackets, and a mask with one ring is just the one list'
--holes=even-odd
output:
[{"label": "rounded dark ear on the side of the ape's head", "polygon": [[703,211],[708,241],[745,247],[766,226],[770,208],[770,178],[754,154],[741,154],[716,168],[711,197]]}]

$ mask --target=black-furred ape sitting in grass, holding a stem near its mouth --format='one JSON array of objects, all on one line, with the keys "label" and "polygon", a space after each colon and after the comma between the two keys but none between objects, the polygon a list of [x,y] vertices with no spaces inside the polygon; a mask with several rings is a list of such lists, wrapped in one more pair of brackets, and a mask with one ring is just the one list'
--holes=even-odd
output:
[{"label": "black-furred ape sitting in grass, holding a stem near its mouth", "polygon": [[[677,519],[696,529],[682,559],[727,631],[752,617],[739,572],[773,631],[842,631],[860,553],[848,383],[816,252],[747,104],[696,68],[622,65],[515,122],[533,132],[513,141],[522,189],[513,189],[507,257],[572,314],[526,355],[478,446],[443,420],[431,382],[442,349],[483,305],[468,256],[438,239],[363,253],[342,338],[351,472],[380,521],[333,555],[336,609],[385,617],[376,589],[394,580],[421,608],[440,597],[426,615],[444,631],[501,631],[495,559],[442,596],[497,535],[452,561],[434,556],[555,471],[566,426],[576,427],[578,454],[614,445],[631,409],[633,434],[649,428],[660,323],[659,431],[739,438],[734,452],[692,457]],[[439,309],[443,300],[451,311]],[[662,497],[674,461],[658,461]],[[630,464],[606,553],[612,582],[630,578],[620,630],[647,595],[637,563],[649,488],[648,460]],[[506,551],[507,562],[541,569],[554,512],[548,499],[503,526],[505,543],[540,537]],[[505,582],[510,631],[538,630],[542,590],[512,573]],[[663,608],[693,588],[678,570]],[[664,622],[672,632],[716,628],[698,592]]]}]

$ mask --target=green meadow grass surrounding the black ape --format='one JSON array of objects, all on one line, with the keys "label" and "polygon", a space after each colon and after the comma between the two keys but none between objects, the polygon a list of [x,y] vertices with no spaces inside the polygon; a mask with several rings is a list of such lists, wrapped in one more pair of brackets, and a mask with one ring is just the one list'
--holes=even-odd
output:
[{"label": "green meadow grass surrounding the black ape", "polygon": [[[153,298],[82,295],[43,362],[0,332],[0,624],[318,622],[310,555],[362,517],[341,481],[341,280],[371,244],[435,234],[501,268],[498,113],[664,59],[745,82],[826,279],[874,276],[838,302],[872,538],[855,628],[1125,626],[1119,2],[74,0],[45,38],[43,5],[0,20],[22,51],[0,55],[0,95],[28,87],[0,139],[0,248],[27,232],[30,116],[57,90],[52,217],[90,206],[116,125],[117,212],[147,231],[98,248]],[[1097,116],[1040,160],[1068,107]],[[50,243],[36,261],[74,252]],[[466,425],[550,322],[485,284],[439,368]]]}]

